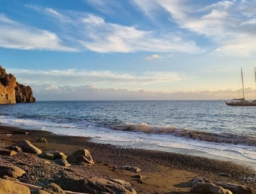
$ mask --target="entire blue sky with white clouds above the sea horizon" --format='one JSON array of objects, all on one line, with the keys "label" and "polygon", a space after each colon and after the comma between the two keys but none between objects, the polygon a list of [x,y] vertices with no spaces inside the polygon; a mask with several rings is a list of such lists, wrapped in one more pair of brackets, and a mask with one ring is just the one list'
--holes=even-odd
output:
[{"label": "entire blue sky with white clouds above the sea horizon", "polygon": [[38,100],[256,98],[256,1],[0,0],[0,62]]}]

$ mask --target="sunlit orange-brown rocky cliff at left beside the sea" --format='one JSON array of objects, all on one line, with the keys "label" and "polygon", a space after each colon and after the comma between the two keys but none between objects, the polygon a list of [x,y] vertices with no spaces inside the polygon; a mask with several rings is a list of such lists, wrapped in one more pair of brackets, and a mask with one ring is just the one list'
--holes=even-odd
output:
[{"label": "sunlit orange-brown rocky cliff at left beside the sea", "polygon": [[19,84],[15,76],[0,65],[0,104],[34,103],[31,87]]}]

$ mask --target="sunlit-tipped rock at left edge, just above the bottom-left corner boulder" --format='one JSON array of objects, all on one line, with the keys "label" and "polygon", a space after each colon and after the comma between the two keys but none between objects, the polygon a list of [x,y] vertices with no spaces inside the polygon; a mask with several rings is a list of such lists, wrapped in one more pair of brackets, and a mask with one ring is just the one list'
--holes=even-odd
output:
[{"label": "sunlit-tipped rock at left edge, just above the bottom-left corner boulder", "polygon": [[19,168],[17,166],[3,166],[0,165],[0,177],[3,177],[4,175],[12,178],[21,177],[26,172],[22,170],[22,168]]}]

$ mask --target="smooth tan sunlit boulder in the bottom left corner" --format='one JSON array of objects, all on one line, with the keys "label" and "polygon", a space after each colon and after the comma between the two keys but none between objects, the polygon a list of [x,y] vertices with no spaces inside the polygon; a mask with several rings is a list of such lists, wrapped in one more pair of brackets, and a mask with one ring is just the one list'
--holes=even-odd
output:
[{"label": "smooth tan sunlit boulder in the bottom left corner", "polygon": [[29,187],[0,179],[0,193],[1,194],[30,194]]}]

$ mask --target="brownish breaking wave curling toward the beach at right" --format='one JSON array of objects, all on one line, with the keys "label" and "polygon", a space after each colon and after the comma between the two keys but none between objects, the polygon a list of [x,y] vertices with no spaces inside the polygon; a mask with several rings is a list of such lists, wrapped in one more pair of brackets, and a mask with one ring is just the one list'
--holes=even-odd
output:
[{"label": "brownish breaking wave curling toward the beach at right", "polygon": [[210,141],[216,143],[232,143],[232,144],[248,144],[256,146],[256,137],[253,135],[241,136],[231,133],[216,134],[213,132],[202,132],[198,130],[190,130],[188,128],[178,128],[173,126],[147,125],[146,123],[135,124],[125,123],[123,125],[113,125],[113,130],[143,132],[147,134],[170,134],[173,136],[181,136],[188,139],[197,139],[201,141]]}]

